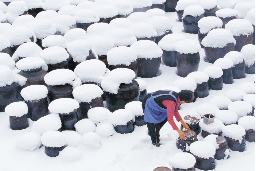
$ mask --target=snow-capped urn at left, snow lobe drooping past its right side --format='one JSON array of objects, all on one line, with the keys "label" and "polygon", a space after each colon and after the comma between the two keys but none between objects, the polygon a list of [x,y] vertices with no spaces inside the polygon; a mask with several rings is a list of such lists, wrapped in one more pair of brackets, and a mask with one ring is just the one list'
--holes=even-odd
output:
[{"label": "snow-capped urn at left, snow lobe drooping past its right side", "polygon": [[73,98],[73,89],[81,85],[81,80],[68,69],[57,69],[44,76],[50,101],[58,98]]}]

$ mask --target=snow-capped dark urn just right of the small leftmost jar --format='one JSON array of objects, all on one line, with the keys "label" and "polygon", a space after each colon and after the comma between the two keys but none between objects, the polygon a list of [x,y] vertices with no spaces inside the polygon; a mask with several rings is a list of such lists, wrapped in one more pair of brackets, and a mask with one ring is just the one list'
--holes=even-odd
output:
[{"label": "snow-capped dark urn just right of the small leftmost jar", "polygon": [[20,91],[28,106],[28,117],[32,121],[37,121],[39,118],[49,114],[47,87],[44,85],[30,85]]}]

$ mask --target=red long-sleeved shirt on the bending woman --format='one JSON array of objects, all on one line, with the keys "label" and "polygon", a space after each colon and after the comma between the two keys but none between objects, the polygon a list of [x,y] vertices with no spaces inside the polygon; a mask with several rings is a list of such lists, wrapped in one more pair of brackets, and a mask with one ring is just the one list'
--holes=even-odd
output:
[{"label": "red long-sleeved shirt on the bending woman", "polygon": [[[171,100],[163,100],[162,101],[162,104],[167,107],[167,120],[173,130],[179,129],[173,120],[173,116],[176,118],[177,121],[182,120],[182,117],[181,117],[181,115],[179,115],[179,112],[178,112],[180,101],[181,100],[179,99],[179,97],[177,99],[177,105],[175,104],[174,101],[171,101]],[[176,109],[175,109],[175,107],[176,107]]]}]

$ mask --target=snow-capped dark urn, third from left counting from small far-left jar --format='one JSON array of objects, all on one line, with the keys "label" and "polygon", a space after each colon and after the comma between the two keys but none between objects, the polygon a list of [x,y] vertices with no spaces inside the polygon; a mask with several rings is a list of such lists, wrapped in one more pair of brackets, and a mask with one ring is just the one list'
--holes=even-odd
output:
[{"label": "snow-capped dark urn, third from left counting from small far-left jar", "polygon": [[75,131],[75,123],[77,123],[79,114],[77,109],[79,103],[72,98],[59,98],[49,104],[49,111],[51,113],[59,114],[61,118],[61,131],[70,130]]}]

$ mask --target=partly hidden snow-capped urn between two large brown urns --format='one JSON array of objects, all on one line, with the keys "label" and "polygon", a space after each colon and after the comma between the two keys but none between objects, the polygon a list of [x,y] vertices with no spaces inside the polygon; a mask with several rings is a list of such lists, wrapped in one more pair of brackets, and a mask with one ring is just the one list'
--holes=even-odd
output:
[{"label": "partly hidden snow-capped urn between two large brown urns", "polygon": [[159,42],[158,46],[163,50],[162,60],[166,66],[177,66],[177,51],[175,51],[175,43],[179,40],[186,39],[182,34],[173,33],[164,36]]}]

